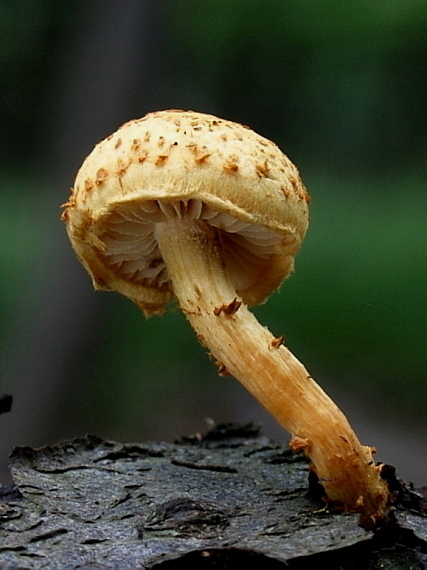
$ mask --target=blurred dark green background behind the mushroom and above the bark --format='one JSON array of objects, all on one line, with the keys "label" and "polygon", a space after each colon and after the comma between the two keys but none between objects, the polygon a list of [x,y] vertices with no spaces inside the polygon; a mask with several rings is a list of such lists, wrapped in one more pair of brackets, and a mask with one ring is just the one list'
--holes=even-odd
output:
[{"label": "blurred dark green background behind the mushroom and above the bark", "polygon": [[59,221],[93,145],[152,110],[250,125],[312,195],[295,274],[255,310],[362,441],[427,483],[425,0],[0,0],[0,462],[85,432],[260,421],[178,310],[92,291]]}]

